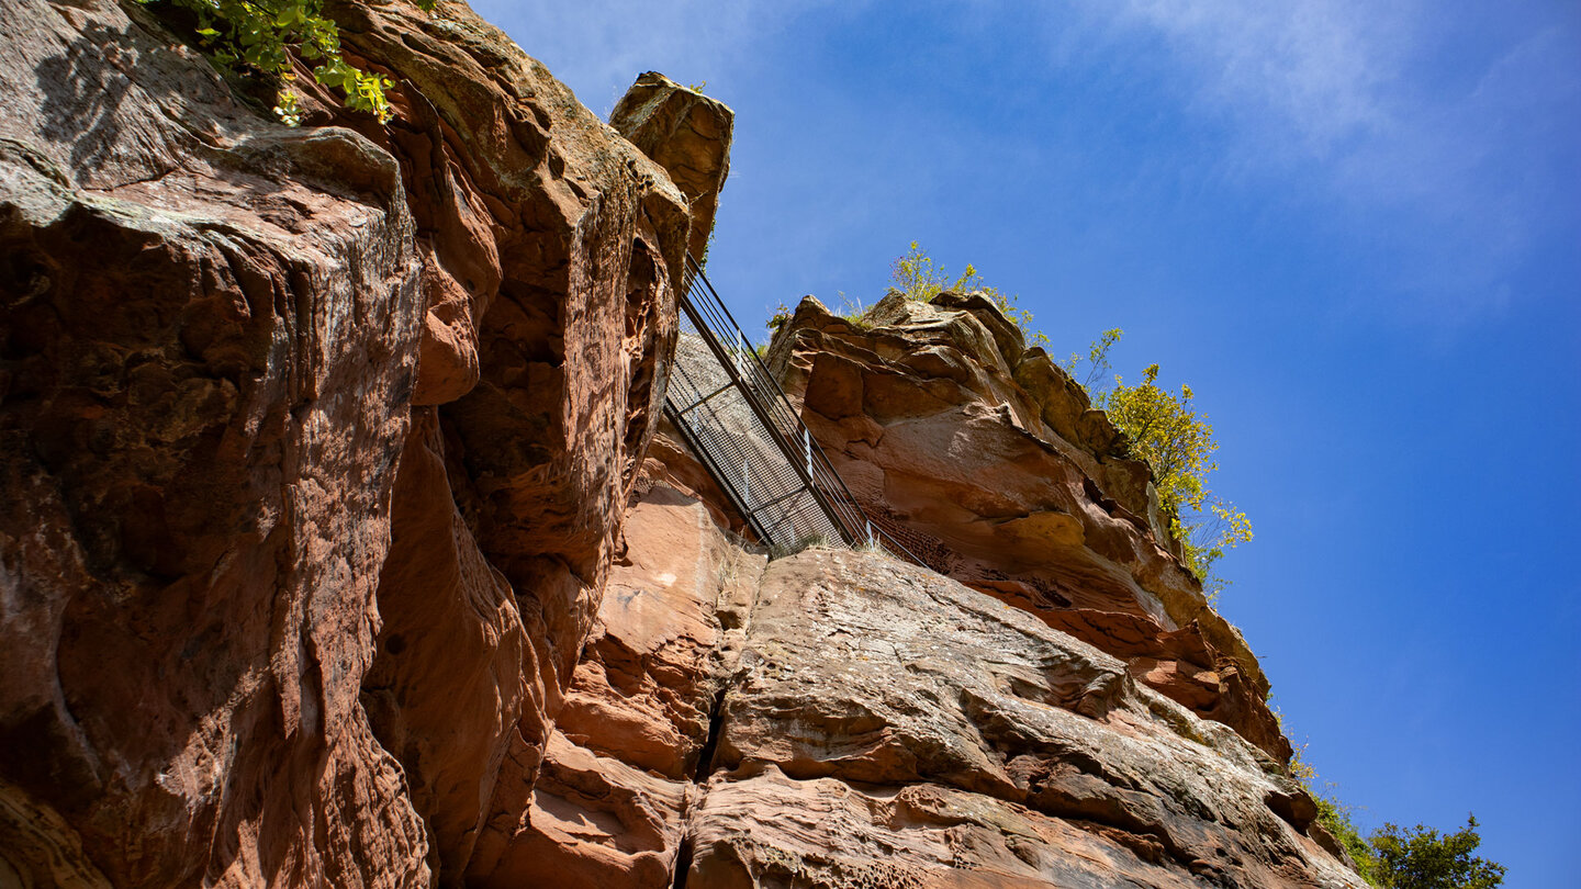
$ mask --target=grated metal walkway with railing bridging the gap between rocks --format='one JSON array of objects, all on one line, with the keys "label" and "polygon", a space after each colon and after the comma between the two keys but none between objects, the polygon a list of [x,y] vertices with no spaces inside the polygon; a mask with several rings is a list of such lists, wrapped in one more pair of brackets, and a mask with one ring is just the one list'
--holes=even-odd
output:
[{"label": "grated metal walkway with railing bridging the gap between rocks", "polygon": [[882,546],[922,565],[857,505],[691,256],[686,270],[664,414],[757,539]]}]

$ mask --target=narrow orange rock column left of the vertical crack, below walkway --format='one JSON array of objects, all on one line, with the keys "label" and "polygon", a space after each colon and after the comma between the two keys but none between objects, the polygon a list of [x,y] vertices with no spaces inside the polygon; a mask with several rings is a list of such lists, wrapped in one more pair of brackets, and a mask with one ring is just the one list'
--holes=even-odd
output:
[{"label": "narrow orange rock column left of the vertical crack, below walkway", "polygon": [[764,558],[730,546],[699,501],[664,486],[624,530],[531,808],[514,835],[479,849],[476,886],[674,881],[724,664]]}]

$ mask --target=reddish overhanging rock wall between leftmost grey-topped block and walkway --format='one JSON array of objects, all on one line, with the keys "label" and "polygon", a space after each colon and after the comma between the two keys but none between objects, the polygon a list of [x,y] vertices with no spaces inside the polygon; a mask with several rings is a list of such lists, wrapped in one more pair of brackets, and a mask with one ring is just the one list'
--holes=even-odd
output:
[{"label": "reddish overhanging rock wall between leftmost grey-topped block and walkway", "polygon": [[421,482],[403,457],[367,688],[454,884],[530,804],[659,416],[689,221],[666,172],[541,65],[465,8],[441,19],[340,16],[353,51],[414,87],[372,134],[432,233],[417,400],[438,408],[409,454]]}]

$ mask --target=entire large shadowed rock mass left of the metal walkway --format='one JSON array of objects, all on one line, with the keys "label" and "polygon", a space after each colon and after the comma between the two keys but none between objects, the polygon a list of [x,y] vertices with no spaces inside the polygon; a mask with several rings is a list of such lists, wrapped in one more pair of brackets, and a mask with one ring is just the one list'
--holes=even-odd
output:
[{"label": "entire large shadowed rock mass left of the metal walkway", "polygon": [[302,78],[299,130],[155,9],[0,5],[0,856],[458,883],[591,626],[688,199],[463,5],[332,3],[397,117]]}]

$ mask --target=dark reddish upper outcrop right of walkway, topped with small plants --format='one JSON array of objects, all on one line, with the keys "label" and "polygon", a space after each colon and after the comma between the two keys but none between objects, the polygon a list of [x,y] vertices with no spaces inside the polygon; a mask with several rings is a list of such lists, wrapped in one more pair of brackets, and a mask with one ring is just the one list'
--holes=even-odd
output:
[{"label": "dark reddish upper outcrop right of walkway, topped with small plants", "polygon": [[805,299],[770,362],[868,513],[934,569],[1040,615],[1281,761],[1268,680],[1173,552],[1145,463],[982,296]]}]

